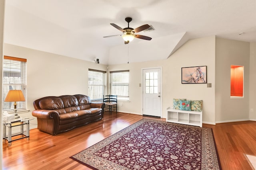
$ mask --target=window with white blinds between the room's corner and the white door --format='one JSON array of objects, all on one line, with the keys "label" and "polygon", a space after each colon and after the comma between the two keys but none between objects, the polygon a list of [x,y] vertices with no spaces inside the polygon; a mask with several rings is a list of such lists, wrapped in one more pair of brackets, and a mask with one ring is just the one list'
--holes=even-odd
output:
[{"label": "window with white blinds between the room's corner and the white door", "polygon": [[110,71],[110,94],[129,100],[129,70]]}]

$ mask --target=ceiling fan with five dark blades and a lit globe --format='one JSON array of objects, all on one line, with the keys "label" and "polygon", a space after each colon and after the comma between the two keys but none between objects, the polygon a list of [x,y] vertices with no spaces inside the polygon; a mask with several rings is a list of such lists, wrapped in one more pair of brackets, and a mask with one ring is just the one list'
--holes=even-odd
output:
[{"label": "ceiling fan with five dark blades and a lit globe", "polygon": [[133,29],[133,28],[129,27],[129,23],[130,23],[130,21],[132,21],[132,18],[127,17],[127,18],[125,18],[125,21],[128,22],[128,27],[126,27],[124,29],[122,29],[121,27],[119,27],[118,25],[116,25],[114,23],[110,23],[110,25],[112,25],[116,29],[122,31],[123,32],[122,35],[110,35],[110,36],[105,36],[104,38],[122,36],[122,38],[124,39],[124,44],[128,44],[134,38],[140,38],[140,39],[145,39],[145,40],[151,40],[152,39],[151,37],[135,34],[135,33],[138,33],[140,31],[143,31],[145,29],[148,29],[150,27],[150,25],[145,24],[145,25],[141,25],[138,28]]}]

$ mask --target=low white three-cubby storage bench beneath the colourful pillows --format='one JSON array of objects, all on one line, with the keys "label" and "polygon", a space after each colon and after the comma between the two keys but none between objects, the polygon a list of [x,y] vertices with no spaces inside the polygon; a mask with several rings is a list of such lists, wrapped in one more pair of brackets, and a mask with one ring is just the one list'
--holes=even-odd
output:
[{"label": "low white three-cubby storage bench beneath the colourful pillows", "polygon": [[186,111],[167,108],[166,122],[202,127],[202,113],[203,111]]}]

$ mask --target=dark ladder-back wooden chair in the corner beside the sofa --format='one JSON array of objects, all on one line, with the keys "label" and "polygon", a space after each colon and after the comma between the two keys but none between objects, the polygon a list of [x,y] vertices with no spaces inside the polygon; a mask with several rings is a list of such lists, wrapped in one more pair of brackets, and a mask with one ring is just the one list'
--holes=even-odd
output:
[{"label": "dark ladder-back wooden chair in the corner beside the sofa", "polygon": [[117,95],[103,96],[103,102],[105,103],[104,111],[108,111],[112,114],[112,111],[116,111],[117,114]]}]

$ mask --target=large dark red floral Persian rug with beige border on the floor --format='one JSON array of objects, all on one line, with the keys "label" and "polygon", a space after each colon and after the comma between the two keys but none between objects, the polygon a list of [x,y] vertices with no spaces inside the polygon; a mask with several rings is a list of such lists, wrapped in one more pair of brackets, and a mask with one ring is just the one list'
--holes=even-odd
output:
[{"label": "large dark red floral Persian rug with beige border on the floor", "polygon": [[142,119],[71,156],[94,170],[219,170],[212,129]]}]

